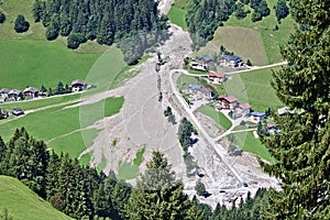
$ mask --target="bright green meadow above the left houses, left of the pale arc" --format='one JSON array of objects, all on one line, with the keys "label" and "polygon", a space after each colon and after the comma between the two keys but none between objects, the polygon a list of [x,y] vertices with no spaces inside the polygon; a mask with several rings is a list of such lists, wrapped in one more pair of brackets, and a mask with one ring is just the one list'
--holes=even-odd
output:
[{"label": "bright green meadow above the left houses, left of the pale arc", "polygon": [[[0,88],[56,88],[85,79],[100,54],[79,54],[58,42],[10,40],[0,42]],[[103,73],[100,73],[103,74]],[[88,81],[89,82],[89,81]]]}]

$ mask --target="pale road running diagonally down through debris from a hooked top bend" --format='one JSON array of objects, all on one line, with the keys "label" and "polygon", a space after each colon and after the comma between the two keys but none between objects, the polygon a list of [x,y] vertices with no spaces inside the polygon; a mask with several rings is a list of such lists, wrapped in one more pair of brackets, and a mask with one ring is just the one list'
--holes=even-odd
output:
[{"label": "pale road running diagonally down through debris from a hooked top bend", "polygon": [[232,174],[237,177],[237,179],[239,179],[239,182],[243,183],[244,180],[241,177],[241,175],[235,170],[235,168],[233,166],[231,166],[231,163],[227,160],[227,157],[228,157],[227,151],[223,148],[223,146],[216,143],[216,141],[217,141],[216,139],[212,139],[212,138],[209,136],[207,131],[201,127],[200,122],[195,117],[193,110],[189,108],[187,102],[180,96],[179,91],[176,88],[175,81],[173,80],[173,75],[177,74],[177,73],[187,73],[187,72],[184,70],[184,69],[173,69],[173,70],[169,72],[169,82],[170,82],[170,88],[172,88],[173,94],[179,100],[179,102],[184,107],[185,111],[189,114],[191,123],[195,124],[198,132],[206,139],[206,141],[209,143],[209,145],[215,148],[217,154],[220,156],[222,162],[228,166],[228,168],[232,172]]}]

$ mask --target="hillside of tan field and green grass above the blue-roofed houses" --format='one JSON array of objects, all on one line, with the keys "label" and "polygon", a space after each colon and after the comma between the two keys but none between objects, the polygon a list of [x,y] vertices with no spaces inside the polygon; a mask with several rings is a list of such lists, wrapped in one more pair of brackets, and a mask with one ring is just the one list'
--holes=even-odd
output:
[{"label": "hillside of tan field and green grass above the blue-roofed houses", "polygon": [[[288,16],[282,20],[280,24],[277,23],[274,10],[276,2],[277,0],[267,0],[271,14],[258,22],[251,21],[252,13],[242,20],[231,15],[229,21],[224,22],[224,26],[218,28],[215,38],[202,48],[204,53],[208,51],[211,53],[215,48],[218,48],[217,52],[219,52],[220,45],[223,45],[228,51],[234,52],[245,59],[252,59],[255,65],[282,61],[279,45],[287,42],[294,31],[295,22]],[[245,9],[248,10],[249,7]],[[276,24],[279,29],[274,31]]]}]

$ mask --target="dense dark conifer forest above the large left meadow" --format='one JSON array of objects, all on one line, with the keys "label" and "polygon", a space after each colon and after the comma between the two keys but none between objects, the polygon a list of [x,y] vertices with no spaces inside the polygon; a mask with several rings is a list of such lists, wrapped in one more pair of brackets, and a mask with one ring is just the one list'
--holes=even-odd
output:
[{"label": "dense dark conifer forest above the large left meadow", "polygon": [[166,35],[166,18],[158,15],[153,0],[35,0],[32,12],[34,21],[47,29],[47,40],[68,36],[69,48],[86,40],[111,45],[138,35],[139,41],[129,43],[134,48],[120,46],[129,64]]}]

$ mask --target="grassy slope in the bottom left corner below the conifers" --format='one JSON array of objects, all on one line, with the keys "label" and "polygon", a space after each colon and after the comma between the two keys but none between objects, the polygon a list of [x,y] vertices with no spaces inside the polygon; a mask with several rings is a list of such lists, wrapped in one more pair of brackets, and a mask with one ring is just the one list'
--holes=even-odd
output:
[{"label": "grassy slope in the bottom left corner below the conifers", "polygon": [[0,212],[4,207],[14,220],[70,219],[18,179],[0,176]]}]

